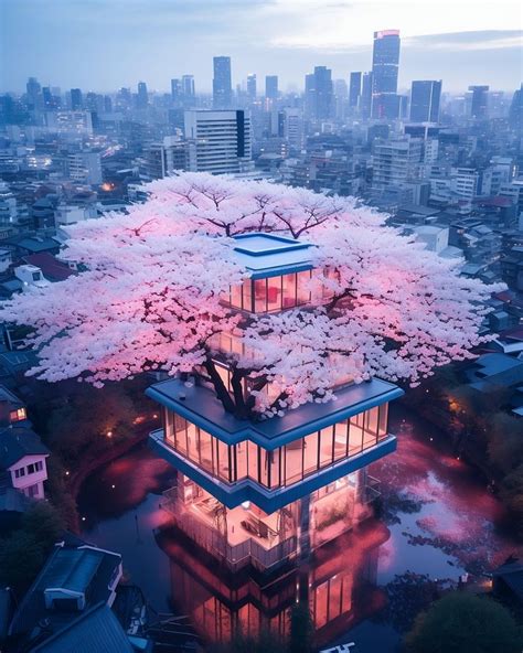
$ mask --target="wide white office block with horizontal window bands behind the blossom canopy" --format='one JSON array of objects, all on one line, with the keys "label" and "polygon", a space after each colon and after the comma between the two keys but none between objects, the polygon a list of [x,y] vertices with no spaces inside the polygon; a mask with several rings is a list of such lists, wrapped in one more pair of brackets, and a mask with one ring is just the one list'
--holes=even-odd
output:
[{"label": "wide white office block with horizontal window bands behind the blossom canopy", "polygon": [[190,170],[234,174],[252,168],[250,118],[245,111],[185,111],[184,131],[195,143]]}]

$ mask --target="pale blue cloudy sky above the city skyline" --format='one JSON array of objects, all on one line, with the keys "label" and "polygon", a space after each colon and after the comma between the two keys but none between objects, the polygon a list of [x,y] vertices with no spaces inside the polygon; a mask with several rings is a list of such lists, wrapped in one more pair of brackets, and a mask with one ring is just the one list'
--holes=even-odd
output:
[{"label": "pale blue cloudy sky above the city skyline", "polygon": [[277,74],[301,89],[314,65],[333,78],[371,68],[373,32],[399,29],[399,88],[441,78],[514,90],[523,77],[516,0],[0,0],[0,89],[26,78],[67,89],[121,86],[168,90],[193,74],[209,92],[213,55],[233,60],[233,84]]}]

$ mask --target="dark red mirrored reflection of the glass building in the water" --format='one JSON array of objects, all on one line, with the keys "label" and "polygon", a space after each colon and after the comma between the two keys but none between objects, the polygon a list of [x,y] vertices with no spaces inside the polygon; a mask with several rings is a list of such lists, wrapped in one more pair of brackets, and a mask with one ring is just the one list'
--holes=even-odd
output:
[{"label": "dark red mirrored reflection of the glass building in the water", "polygon": [[376,575],[380,546],[388,535],[382,523],[369,520],[300,565],[269,576],[253,567],[232,572],[173,527],[161,528],[157,542],[169,556],[174,606],[191,617],[207,643],[226,643],[238,631],[285,636],[292,604],[306,596],[321,646],[384,606]]}]

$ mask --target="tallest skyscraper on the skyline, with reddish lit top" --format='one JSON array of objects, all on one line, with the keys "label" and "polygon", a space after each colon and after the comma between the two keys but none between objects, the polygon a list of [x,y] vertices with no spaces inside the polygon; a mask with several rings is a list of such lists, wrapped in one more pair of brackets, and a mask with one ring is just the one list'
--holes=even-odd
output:
[{"label": "tallest skyscraper on the skyline, with reddish lit top", "polygon": [[397,74],[399,31],[374,32],[372,53],[372,117],[395,119],[398,116]]}]

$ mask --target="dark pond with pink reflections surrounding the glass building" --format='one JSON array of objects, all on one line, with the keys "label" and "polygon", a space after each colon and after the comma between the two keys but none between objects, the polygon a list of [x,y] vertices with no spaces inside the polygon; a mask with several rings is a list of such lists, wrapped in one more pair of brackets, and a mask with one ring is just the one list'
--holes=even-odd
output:
[{"label": "dark pond with pink reflections surrounding the glass building", "polygon": [[[444,433],[402,405],[391,431],[397,451],[370,470],[381,481],[376,518],[328,546],[307,571],[322,645],[356,641],[359,653],[393,652],[425,586],[433,591],[468,572],[487,587],[490,570],[523,553],[501,504]],[[225,636],[233,618],[258,623],[264,613],[275,625],[298,576],[287,574],[267,593],[252,578],[221,575],[169,527],[160,501],[174,480],[147,446],[100,468],[78,496],[83,536],[122,555],[126,576],[157,612],[189,614],[207,639]]]}]

